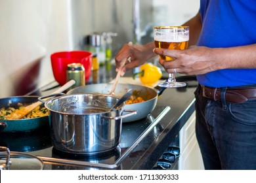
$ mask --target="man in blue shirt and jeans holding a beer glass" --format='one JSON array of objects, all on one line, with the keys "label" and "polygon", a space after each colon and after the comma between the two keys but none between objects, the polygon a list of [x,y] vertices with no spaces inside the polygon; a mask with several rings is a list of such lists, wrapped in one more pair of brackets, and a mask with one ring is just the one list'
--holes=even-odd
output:
[{"label": "man in blue shirt and jeans holding a beer glass", "polygon": [[[196,137],[205,169],[256,169],[256,1],[201,0],[187,50],[125,44],[121,75],[158,55],[168,73],[196,75]],[[194,45],[194,46],[192,46]],[[152,52],[154,50],[154,52]]]}]

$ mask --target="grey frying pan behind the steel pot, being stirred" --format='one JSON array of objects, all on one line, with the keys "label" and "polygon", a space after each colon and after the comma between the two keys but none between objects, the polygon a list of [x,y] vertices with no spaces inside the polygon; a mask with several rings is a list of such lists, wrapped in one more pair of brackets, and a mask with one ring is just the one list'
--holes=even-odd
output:
[{"label": "grey frying pan behind the steel pot, being stirred", "polygon": [[[77,93],[100,93],[100,94],[109,94],[113,88],[113,84],[90,84],[87,86],[80,86],[70,90],[67,94],[77,94]],[[161,90],[156,90],[154,88],[149,88],[146,86],[140,86],[135,84],[117,84],[116,90],[114,91],[114,95],[117,97],[123,96],[127,90],[133,89],[133,91],[139,92],[139,96],[144,99],[142,103],[134,103],[125,105],[123,109],[127,110],[137,110],[137,114],[133,116],[129,116],[127,118],[123,118],[123,122],[133,122],[136,120],[140,120],[142,118],[146,118],[152,110],[156,107],[156,103],[158,102],[158,95],[160,91],[164,90],[164,88],[160,88]]]}]

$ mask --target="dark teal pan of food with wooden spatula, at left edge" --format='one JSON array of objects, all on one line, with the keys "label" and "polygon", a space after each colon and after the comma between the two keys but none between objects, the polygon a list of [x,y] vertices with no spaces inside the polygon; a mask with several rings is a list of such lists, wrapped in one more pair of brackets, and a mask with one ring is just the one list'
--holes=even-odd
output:
[{"label": "dark teal pan of food with wooden spatula, at left edge", "polygon": [[[74,83],[74,80],[70,80],[53,93],[63,92]],[[38,101],[38,96],[0,99],[0,131],[28,132],[43,125],[49,125],[49,114],[43,103]]]}]

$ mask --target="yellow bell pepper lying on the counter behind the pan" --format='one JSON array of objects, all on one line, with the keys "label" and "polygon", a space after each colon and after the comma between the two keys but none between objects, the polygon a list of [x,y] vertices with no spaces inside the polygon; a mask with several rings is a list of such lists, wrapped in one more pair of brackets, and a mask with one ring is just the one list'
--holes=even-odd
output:
[{"label": "yellow bell pepper lying on the counter behind the pan", "polygon": [[140,72],[133,75],[133,79],[135,79],[136,75],[139,75],[140,81],[143,84],[154,84],[161,78],[162,73],[161,69],[156,65],[145,63],[140,66]]}]

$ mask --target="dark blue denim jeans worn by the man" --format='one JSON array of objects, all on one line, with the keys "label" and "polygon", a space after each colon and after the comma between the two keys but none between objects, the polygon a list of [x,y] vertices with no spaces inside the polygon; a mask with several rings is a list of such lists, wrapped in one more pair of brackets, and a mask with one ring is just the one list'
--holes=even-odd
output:
[{"label": "dark blue denim jeans worn by the man", "polygon": [[256,99],[226,103],[196,96],[196,137],[205,169],[256,169]]}]

